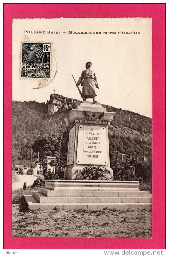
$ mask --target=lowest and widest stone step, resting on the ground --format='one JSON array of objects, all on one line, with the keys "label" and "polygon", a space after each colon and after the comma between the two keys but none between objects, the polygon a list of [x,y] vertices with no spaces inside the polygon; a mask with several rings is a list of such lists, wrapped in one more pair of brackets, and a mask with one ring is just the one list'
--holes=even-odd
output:
[{"label": "lowest and widest stone step, resting on the ground", "polygon": [[28,209],[31,210],[103,210],[151,209],[151,203],[39,203],[33,196],[25,195]]}]

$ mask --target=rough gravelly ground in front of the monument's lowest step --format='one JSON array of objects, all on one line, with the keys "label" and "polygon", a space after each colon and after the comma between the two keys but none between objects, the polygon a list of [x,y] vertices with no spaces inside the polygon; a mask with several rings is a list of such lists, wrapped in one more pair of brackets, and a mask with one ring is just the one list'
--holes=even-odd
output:
[{"label": "rough gravelly ground in front of the monument's lowest step", "polygon": [[13,204],[14,237],[151,238],[151,211],[19,211]]}]

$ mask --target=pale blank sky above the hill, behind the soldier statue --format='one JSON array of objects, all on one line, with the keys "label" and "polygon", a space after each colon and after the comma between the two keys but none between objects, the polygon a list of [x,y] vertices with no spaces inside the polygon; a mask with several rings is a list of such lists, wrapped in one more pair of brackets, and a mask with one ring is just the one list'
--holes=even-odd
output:
[{"label": "pale blank sky above the hill, behind the soldier statue", "polygon": [[[59,33],[51,34],[51,31]],[[92,33],[70,34],[69,31]],[[34,89],[39,88],[40,79],[21,78],[22,42],[52,43],[51,78],[46,82],[41,80],[46,86],[40,89]],[[97,102],[152,117],[151,55],[150,18],[15,19],[13,100],[46,103],[54,89],[57,94],[81,100],[72,74],[78,81],[86,62],[91,61],[99,84]]]}]

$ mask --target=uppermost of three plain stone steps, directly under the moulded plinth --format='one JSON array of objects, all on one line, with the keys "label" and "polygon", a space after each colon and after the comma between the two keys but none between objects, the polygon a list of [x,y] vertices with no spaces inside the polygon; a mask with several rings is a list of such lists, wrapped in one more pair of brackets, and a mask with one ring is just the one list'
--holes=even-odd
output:
[{"label": "uppermost of three plain stone steps, directly under the moulded plinth", "polygon": [[93,191],[93,190],[48,190],[39,188],[39,192],[47,197],[149,197],[147,191]]}]

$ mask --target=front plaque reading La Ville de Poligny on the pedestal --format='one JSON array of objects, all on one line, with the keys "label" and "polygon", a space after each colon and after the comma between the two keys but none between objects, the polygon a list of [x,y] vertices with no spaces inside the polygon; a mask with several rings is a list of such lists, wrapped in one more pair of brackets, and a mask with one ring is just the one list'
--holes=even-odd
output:
[{"label": "front plaque reading La Ville de Poligny on the pedestal", "polygon": [[80,125],[77,142],[77,164],[107,165],[106,128]]}]

